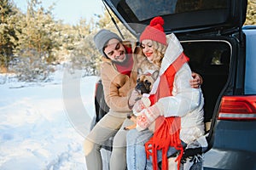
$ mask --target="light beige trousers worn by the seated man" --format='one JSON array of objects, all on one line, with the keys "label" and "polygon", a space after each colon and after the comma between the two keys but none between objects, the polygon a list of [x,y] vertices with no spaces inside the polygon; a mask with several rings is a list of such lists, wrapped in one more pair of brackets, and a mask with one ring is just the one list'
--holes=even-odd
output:
[{"label": "light beige trousers worn by the seated man", "polygon": [[[125,114],[126,115],[126,114]],[[125,170],[126,168],[126,133],[124,127],[133,124],[123,116],[107,114],[90,131],[84,140],[84,154],[87,170],[102,170],[102,144],[113,137],[113,150],[110,157],[110,170]]]}]

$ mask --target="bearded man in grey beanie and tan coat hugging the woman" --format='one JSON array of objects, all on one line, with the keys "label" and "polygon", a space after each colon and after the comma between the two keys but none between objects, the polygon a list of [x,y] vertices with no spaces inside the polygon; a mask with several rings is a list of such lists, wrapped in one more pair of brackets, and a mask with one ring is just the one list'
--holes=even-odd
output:
[{"label": "bearded man in grey beanie and tan coat hugging the woman", "polygon": [[[126,118],[131,114],[129,105],[137,98],[134,88],[137,83],[137,60],[142,55],[134,54],[136,49],[130,42],[108,30],[97,32],[94,37],[96,48],[103,55],[101,77],[105,100],[110,108],[100,122],[84,140],[84,154],[88,170],[102,170],[102,144],[113,137],[113,150],[110,157],[110,170],[126,168],[126,133],[124,127],[133,124]],[[201,77],[196,74],[191,86],[198,88]]]}]

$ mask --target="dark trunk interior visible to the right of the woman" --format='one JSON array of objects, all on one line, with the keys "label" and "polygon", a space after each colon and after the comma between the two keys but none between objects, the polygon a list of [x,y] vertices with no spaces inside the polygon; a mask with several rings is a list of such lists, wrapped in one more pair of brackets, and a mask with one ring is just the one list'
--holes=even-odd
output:
[{"label": "dark trunk interior visible to the right of the woman", "polygon": [[[218,95],[227,82],[230,70],[231,45],[219,40],[181,41],[189,65],[203,78],[201,89],[205,99],[205,122],[212,122]],[[209,127],[206,127],[206,131]]]}]

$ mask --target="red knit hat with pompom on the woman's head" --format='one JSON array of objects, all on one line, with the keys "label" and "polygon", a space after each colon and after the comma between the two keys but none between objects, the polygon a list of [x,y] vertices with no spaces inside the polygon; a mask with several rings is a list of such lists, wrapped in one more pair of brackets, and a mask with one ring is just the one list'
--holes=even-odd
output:
[{"label": "red knit hat with pompom on the woman's head", "polygon": [[150,39],[154,40],[155,42],[160,42],[166,45],[166,33],[164,32],[163,28],[164,24],[165,21],[163,20],[162,17],[154,17],[154,19],[150,21],[149,26],[147,26],[143,33],[141,34],[140,42],[142,42],[145,39]]}]

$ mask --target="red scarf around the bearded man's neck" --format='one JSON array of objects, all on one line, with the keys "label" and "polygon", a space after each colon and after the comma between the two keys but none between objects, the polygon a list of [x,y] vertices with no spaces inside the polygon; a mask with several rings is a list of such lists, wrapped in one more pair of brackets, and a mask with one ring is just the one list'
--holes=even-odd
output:
[{"label": "red scarf around the bearded man's neck", "polygon": [[119,71],[119,73],[127,75],[130,77],[131,75],[131,70],[132,70],[132,66],[133,66],[133,59],[132,59],[132,50],[129,47],[125,47],[126,50],[126,57],[128,57],[128,60],[126,61],[126,65],[116,65],[116,69],[117,71]]}]

